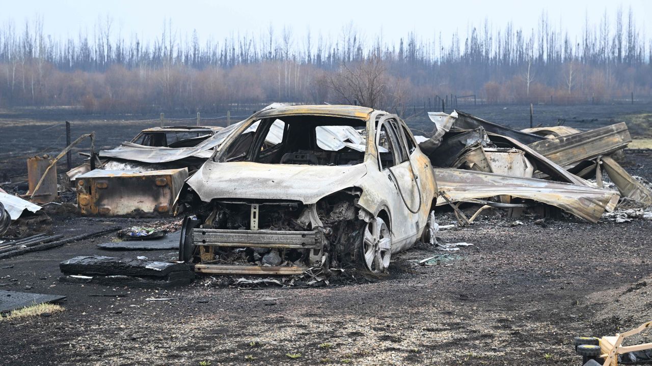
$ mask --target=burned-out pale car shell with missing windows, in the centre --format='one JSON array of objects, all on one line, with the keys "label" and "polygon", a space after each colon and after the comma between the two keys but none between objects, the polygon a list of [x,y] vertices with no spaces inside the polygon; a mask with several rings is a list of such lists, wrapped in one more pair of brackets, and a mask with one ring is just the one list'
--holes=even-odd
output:
[{"label": "burned-out pale car shell with missing windows, in the centre", "polygon": [[357,106],[259,111],[186,184],[196,216],[184,220],[179,259],[212,274],[386,272],[436,199],[405,122]]}]

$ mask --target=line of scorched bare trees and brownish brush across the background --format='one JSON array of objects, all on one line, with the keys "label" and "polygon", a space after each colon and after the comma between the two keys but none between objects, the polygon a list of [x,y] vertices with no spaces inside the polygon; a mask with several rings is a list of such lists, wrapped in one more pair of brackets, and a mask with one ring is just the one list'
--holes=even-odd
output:
[{"label": "line of scorched bare trees and brownish brush across the background", "polygon": [[[272,25],[259,35],[200,42],[165,21],[160,36],[125,37],[110,17],[69,38],[44,19],[0,28],[0,106],[76,106],[91,113],[221,112],[238,104],[363,104],[405,113],[446,95],[484,103],[603,103],[649,98],[652,39],[632,9],[580,20],[569,35],[542,12],[531,29],[489,20],[466,34],[368,39],[350,23],[301,39]],[[430,104],[430,102],[428,102]],[[434,107],[433,107],[434,109]]]}]

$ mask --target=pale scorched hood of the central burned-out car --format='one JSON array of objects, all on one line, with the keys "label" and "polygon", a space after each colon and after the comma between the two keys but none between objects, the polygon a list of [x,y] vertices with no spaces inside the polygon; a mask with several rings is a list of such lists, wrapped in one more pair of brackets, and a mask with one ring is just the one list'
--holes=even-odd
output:
[{"label": "pale scorched hood of the central burned-out car", "polygon": [[187,182],[205,202],[282,199],[311,204],[331,193],[356,186],[366,172],[364,163],[325,166],[209,160]]}]

